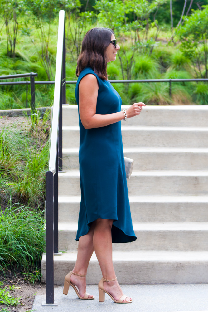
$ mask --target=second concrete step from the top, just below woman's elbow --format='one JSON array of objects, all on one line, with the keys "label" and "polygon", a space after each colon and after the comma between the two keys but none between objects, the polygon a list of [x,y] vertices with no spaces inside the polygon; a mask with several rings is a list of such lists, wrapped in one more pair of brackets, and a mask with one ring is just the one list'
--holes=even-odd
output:
[{"label": "second concrete step from the top, just below woman's elbow", "polygon": [[[208,127],[122,126],[124,148],[208,147]],[[63,126],[63,148],[79,147],[79,126]]]}]

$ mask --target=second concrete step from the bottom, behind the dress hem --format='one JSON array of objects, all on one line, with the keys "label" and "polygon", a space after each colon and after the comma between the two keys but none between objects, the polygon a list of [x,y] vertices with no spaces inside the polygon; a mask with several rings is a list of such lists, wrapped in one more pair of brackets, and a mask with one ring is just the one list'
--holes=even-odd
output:
[{"label": "second concrete step from the bottom, behind the dress hem", "polygon": [[[208,249],[208,222],[133,223],[137,240],[113,244],[114,251]],[[76,251],[77,222],[59,222],[59,250]]]}]

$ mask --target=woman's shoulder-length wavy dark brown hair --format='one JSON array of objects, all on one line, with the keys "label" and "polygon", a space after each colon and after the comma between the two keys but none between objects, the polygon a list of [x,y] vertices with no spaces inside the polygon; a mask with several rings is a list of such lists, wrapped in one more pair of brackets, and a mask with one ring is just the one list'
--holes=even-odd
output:
[{"label": "woman's shoulder-length wavy dark brown hair", "polygon": [[77,60],[77,77],[85,67],[89,66],[101,79],[108,79],[105,50],[110,44],[112,34],[114,32],[111,29],[98,27],[92,28],[86,33]]}]

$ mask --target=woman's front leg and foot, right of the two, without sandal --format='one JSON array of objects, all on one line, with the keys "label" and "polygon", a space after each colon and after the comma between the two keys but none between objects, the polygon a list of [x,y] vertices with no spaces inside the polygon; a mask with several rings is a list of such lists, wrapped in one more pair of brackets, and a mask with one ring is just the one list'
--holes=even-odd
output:
[{"label": "woman's front leg and foot, right of the two, without sandal", "polygon": [[[113,257],[112,257],[112,234],[111,228],[113,220],[97,219],[94,222],[93,246],[96,253],[103,277],[105,279],[114,279],[116,277]],[[104,289],[109,292],[115,300],[119,300],[123,291],[117,280],[104,282]],[[131,301],[132,298],[125,298],[123,301]]]}]

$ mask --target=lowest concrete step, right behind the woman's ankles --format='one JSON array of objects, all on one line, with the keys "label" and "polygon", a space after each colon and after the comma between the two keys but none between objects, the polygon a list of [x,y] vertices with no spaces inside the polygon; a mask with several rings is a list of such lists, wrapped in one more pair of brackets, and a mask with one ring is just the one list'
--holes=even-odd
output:
[{"label": "lowest concrete step, right behind the woman's ankles", "polygon": [[[65,275],[74,268],[76,252],[54,256],[54,284],[63,285]],[[114,251],[113,261],[120,284],[207,283],[208,251]],[[41,262],[42,281],[46,281],[46,257]],[[87,284],[98,284],[102,277],[95,254],[87,271]]]}]

